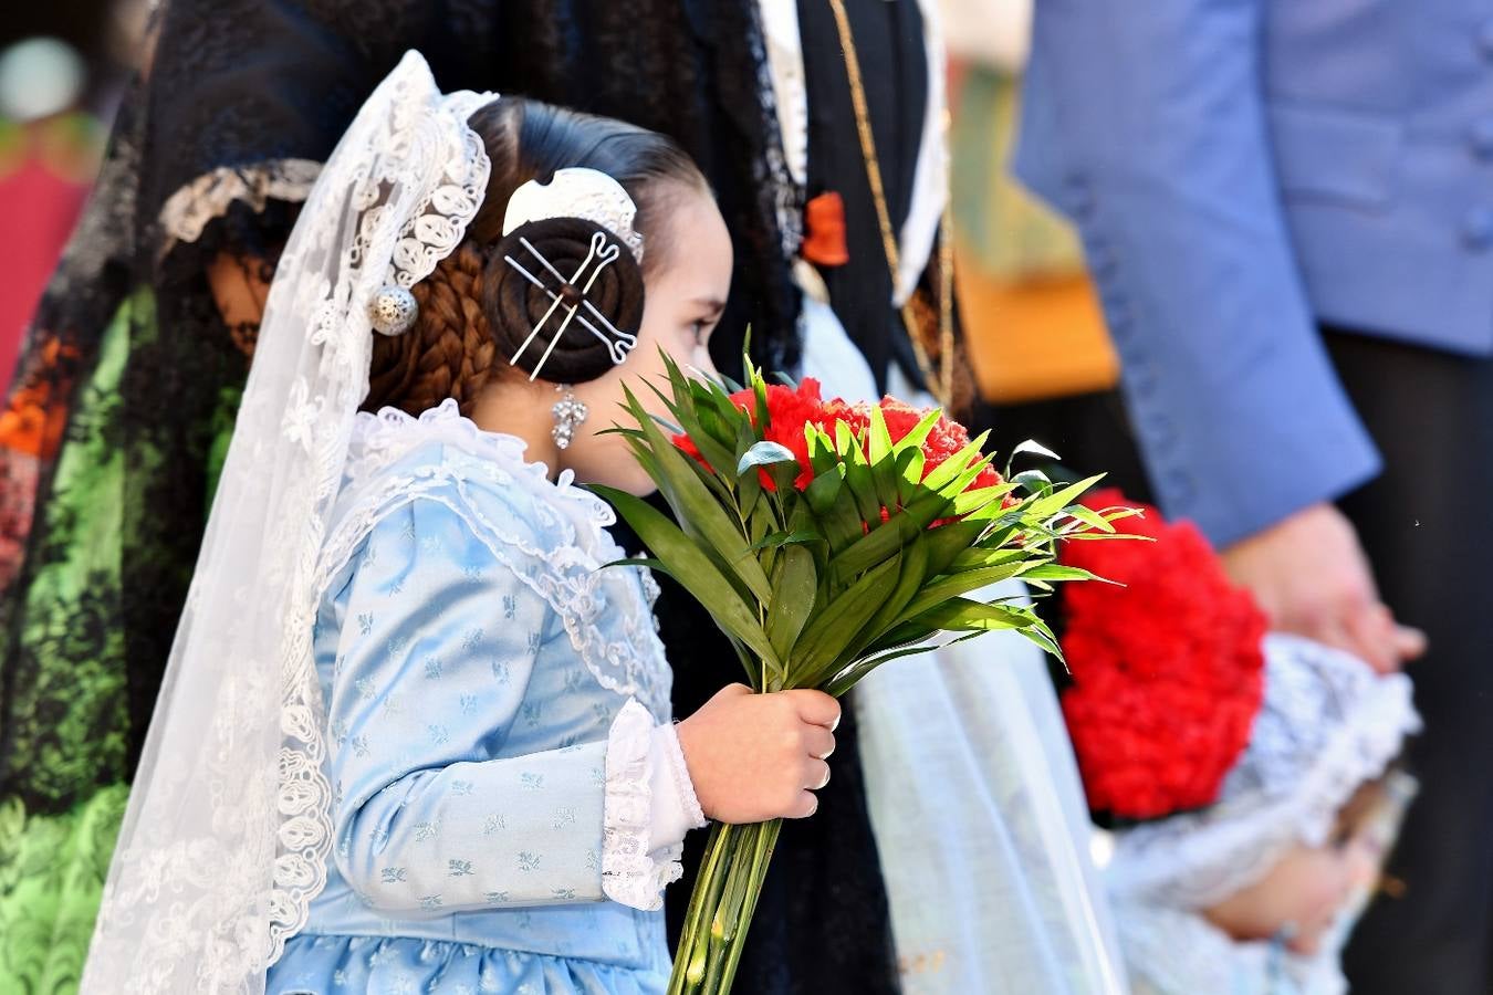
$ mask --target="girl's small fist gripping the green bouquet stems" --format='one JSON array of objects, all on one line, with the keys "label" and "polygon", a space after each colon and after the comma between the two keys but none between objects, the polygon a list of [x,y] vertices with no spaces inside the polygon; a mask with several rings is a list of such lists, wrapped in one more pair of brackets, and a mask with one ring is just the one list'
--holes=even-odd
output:
[{"label": "girl's small fist gripping the green bouquet stems", "polygon": [[700,809],[720,822],[812,816],[839,715],[823,691],[718,691],[676,729]]}]

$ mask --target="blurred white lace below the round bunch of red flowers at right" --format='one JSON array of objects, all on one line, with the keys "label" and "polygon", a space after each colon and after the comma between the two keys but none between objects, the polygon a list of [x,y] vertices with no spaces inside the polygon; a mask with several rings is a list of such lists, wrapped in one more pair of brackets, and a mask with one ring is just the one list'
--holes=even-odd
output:
[{"label": "blurred white lace below the round bunch of red flowers at right", "polygon": [[[1223,800],[1205,812],[1115,832],[1114,856],[1105,870],[1112,894],[1206,908],[1248,888],[1293,844],[1326,841],[1338,810],[1360,785],[1380,777],[1403,749],[1405,737],[1420,729],[1412,686],[1403,674],[1378,677],[1344,653],[1282,635],[1268,637],[1266,661],[1266,709],[1256,721],[1245,756],[1224,783]],[[1305,756],[1262,756],[1265,712],[1272,698],[1306,697],[1293,680],[1303,671],[1332,671],[1333,680],[1345,680],[1347,689],[1333,689],[1335,700],[1350,695],[1350,704],[1335,721],[1291,718],[1299,726],[1312,721],[1327,726],[1317,729],[1320,740],[1297,744],[1308,750]],[[1315,676],[1308,680],[1323,683]]]}]

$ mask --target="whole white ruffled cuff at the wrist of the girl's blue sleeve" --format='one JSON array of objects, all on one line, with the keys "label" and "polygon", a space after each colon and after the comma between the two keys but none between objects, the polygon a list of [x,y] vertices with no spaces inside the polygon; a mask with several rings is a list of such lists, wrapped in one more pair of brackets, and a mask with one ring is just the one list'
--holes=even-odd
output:
[{"label": "whole white ruffled cuff at the wrist of the girl's blue sleeve", "polygon": [[684,834],[703,820],[673,726],[655,726],[630,700],[606,737],[602,892],[632,908],[663,908],[663,889],[684,873]]}]

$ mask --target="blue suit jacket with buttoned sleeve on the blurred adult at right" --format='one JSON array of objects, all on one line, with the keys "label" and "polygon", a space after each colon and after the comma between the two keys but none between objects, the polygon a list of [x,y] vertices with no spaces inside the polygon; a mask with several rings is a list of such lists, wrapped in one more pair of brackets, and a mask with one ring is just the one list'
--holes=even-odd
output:
[{"label": "blue suit jacket with buttoned sleeve on the blurred adult at right", "polygon": [[1487,0],[1038,0],[1026,90],[1017,172],[1215,542],[1378,471],[1317,321],[1493,352]]}]

